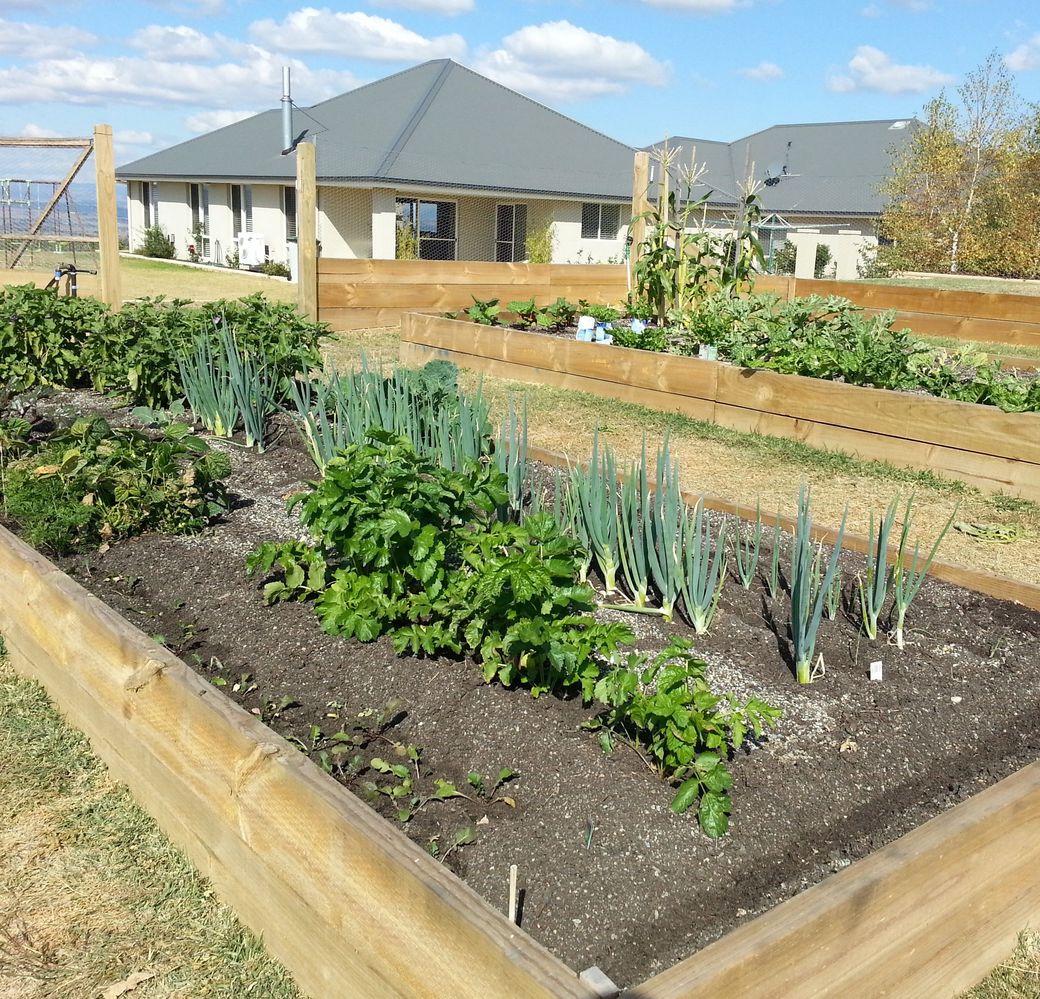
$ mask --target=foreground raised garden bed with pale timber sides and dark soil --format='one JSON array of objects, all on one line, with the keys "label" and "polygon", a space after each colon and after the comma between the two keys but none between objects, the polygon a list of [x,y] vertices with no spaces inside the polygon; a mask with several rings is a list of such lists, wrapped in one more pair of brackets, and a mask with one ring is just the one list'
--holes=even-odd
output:
[{"label": "foreground raised garden bed with pale timber sides and dark soil", "polygon": [[[243,556],[296,530],[281,500],[312,473],[288,440],[232,457],[236,508],[213,531],[64,563],[198,659],[210,683],[7,535],[0,573],[15,585],[0,594],[0,631],[19,668],[45,681],[314,995],[591,995],[566,967],[591,964],[643,999],[720,988],[953,994],[1035,914],[1036,767],[850,866],[1035,758],[1035,612],[930,583],[905,653],[826,624],[828,673],[797,689],[760,585],[751,600],[731,587],[698,649],[723,686],[782,704],[785,719],[734,761],[734,823],[711,843],[669,812],[671,791],[635,754],[602,754],[578,729],[588,712],[576,703],[484,685],[466,663],[399,659],[385,641],[331,638],[300,605],[264,608]],[[643,648],[669,631],[638,624]],[[874,658],[881,684],[865,677]],[[398,696],[407,714],[388,735],[421,745],[432,773],[461,784],[470,768],[517,769],[515,809],[442,803],[408,826],[426,844],[487,814],[477,842],[447,864],[491,904],[228,704],[214,680],[301,739]],[[271,709],[285,698],[298,706]],[[524,930],[563,963],[494,911],[511,863]]]}]

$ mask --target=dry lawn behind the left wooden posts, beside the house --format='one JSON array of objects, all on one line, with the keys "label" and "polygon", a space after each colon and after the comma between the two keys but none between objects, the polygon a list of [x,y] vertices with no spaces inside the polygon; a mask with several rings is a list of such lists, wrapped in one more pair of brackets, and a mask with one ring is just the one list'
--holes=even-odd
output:
[{"label": "dry lawn behind the left wooden posts, beside the house", "polygon": [[[120,258],[123,297],[145,298],[166,295],[190,301],[212,301],[215,298],[238,298],[261,292],[275,301],[295,301],[296,286],[284,278],[266,278],[243,270],[216,267],[188,267],[161,260]],[[0,270],[0,285],[46,285],[51,274],[43,270]],[[97,277],[80,274],[81,295],[100,295]]]}]

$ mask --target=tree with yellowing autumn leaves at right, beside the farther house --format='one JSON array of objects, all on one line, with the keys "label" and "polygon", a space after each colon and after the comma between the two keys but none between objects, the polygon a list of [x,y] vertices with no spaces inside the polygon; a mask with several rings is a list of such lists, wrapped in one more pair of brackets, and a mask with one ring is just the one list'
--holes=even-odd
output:
[{"label": "tree with yellowing autumn leaves at right, beside the farther house", "polygon": [[[1026,133],[1014,79],[994,51],[957,88],[924,109],[882,193],[891,200],[879,236],[903,266],[956,273],[988,255],[985,206],[1018,163]],[[992,218],[992,216],[991,216]]]}]

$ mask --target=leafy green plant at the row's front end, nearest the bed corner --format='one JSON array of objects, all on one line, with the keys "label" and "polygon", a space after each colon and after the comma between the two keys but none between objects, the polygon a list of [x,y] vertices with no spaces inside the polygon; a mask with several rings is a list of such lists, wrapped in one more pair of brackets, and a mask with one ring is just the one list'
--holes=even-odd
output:
[{"label": "leafy green plant at the row's front end, nearest the bed corner", "polygon": [[732,778],[726,758],[740,748],[749,733],[761,737],[780,711],[751,699],[711,691],[707,664],[691,642],[673,638],[649,660],[630,656],[627,665],[596,684],[596,699],[607,708],[603,724],[640,745],[654,766],[678,790],[672,809],[685,812],[698,804],[698,820],[711,837],[729,825]]}]

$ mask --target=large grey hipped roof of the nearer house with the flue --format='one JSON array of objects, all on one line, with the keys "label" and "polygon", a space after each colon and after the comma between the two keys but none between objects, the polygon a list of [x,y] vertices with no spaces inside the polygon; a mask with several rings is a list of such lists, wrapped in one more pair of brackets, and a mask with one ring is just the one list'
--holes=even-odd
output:
[{"label": "large grey hipped roof of the nearer house with the flue", "polygon": [[[631,198],[634,150],[452,62],[436,59],[293,112],[320,184],[458,186]],[[281,111],[127,163],[121,180],[291,182]]]}]

